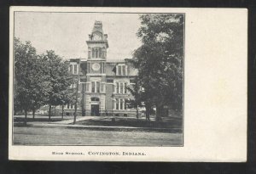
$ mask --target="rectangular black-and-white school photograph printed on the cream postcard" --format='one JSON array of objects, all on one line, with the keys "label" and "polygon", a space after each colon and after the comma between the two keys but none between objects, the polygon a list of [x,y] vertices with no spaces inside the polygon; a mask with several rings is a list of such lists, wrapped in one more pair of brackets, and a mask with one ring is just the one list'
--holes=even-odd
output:
[{"label": "rectangular black-and-white school photograph printed on the cream postcard", "polygon": [[12,144],[183,147],[184,24],[15,11]]}]

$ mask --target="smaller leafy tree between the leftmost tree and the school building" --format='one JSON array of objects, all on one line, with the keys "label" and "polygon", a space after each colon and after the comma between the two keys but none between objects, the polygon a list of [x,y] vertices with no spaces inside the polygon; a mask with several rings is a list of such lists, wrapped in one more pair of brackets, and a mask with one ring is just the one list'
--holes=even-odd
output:
[{"label": "smaller leafy tree between the leftmost tree and the school building", "polygon": [[54,51],[46,51],[41,57],[47,62],[45,70],[48,73],[49,89],[46,104],[49,104],[50,120],[52,106],[63,105],[63,101],[65,102],[66,96],[63,93],[70,87],[72,77],[68,72],[68,65]]}]

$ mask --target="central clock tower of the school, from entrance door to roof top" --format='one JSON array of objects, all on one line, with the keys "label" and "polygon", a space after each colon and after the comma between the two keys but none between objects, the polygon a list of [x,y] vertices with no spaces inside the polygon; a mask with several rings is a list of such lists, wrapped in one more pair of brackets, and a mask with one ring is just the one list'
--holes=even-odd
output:
[{"label": "central clock tower of the school, from entrance door to roof top", "polygon": [[85,95],[86,115],[104,115],[106,113],[108,35],[104,34],[101,21],[95,21],[86,43],[88,46]]}]

